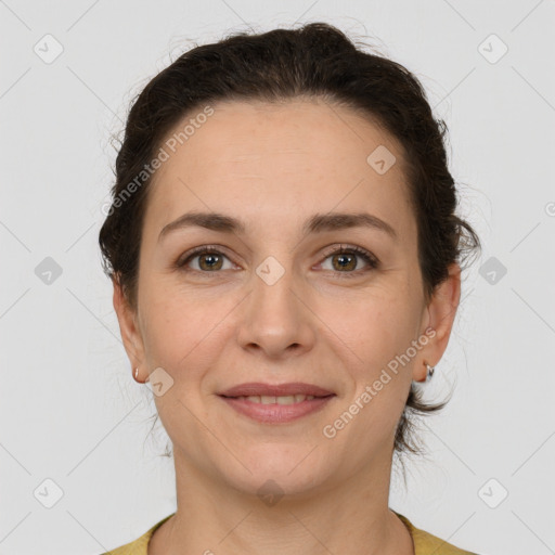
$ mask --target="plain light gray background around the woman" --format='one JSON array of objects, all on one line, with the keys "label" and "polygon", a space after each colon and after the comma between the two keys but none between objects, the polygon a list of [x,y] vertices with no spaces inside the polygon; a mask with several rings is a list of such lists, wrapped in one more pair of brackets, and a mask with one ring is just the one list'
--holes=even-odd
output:
[{"label": "plain light gray background around the woman", "polygon": [[482,555],[554,552],[555,3],[7,0],[0,554],[100,553],[175,511],[167,436],[149,435],[152,392],[101,270],[111,134],[194,41],[309,21],[367,37],[423,81],[485,247],[427,386],[454,397],[423,424],[430,455],[408,463],[408,491],[395,473],[390,506]]}]

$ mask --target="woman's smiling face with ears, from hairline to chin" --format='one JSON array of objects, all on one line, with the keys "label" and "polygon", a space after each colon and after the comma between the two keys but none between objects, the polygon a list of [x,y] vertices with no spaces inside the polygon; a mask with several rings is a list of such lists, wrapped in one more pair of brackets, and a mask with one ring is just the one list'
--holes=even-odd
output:
[{"label": "woman's smiling face with ears, from hairline to chin", "polygon": [[[133,367],[155,371],[176,462],[250,493],[387,468],[411,380],[441,358],[459,301],[456,280],[424,301],[400,146],[321,101],[212,107],[162,145],[137,312],[114,297]],[[193,212],[224,219],[177,223]],[[333,395],[222,396],[247,383]]]}]

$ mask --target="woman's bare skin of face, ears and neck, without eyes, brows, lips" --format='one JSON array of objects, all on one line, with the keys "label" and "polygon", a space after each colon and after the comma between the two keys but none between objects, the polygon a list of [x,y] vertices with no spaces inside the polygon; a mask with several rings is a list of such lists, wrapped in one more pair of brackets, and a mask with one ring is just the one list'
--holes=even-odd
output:
[{"label": "woman's bare skin of face, ears and neck, without eyes, brows, lips", "polygon": [[[135,379],[157,367],[173,379],[155,401],[173,444],[178,508],[149,555],[414,554],[388,508],[393,438],[411,380],[424,380],[425,363],[437,364],[447,348],[461,269],[450,267],[426,304],[403,152],[369,119],[313,99],[214,108],[155,176],[137,310],[114,282]],[[366,163],[378,145],[397,158],[384,175]],[[241,218],[246,233],[189,228],[158,242],[167,223],[191,210]],[[330,211],[370,212],[398,241],[367,228],[302,235],[309,217]],[[357,256],[343,269],[327,255],[341,244],[369,250],[379,266]],[[202,245],[217,245],[223,258],[215,264],[197,256],[189,272],[175,268]],[[269,256],[284,270],[273,285],[256,273]],[[348,272],[354,278],[341,279]],[[428,326],[435,337],[326,438],[323,427]],[[261,424],[216,395],[245,382],[307,382],[336,397],[298,421]],[[284,493],[273,505],[257,494],[269,479]]]}]

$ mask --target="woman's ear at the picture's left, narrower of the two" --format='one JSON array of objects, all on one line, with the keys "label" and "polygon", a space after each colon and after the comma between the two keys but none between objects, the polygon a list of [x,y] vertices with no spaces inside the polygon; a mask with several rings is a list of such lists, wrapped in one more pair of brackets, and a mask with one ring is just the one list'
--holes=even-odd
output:
[{"label": "woman's ear at the picture's left, narrower of the two", "polygon": [[139,369],[138,376],[133,377],[138,382],[144,382],[149,377],[149,372],[145,366],[144,358],[144,344],[143,338],[138,326],[137,312],[129,306],[119,281],[117,278],[112,279],[114,285],[114,310],[116,311],[117,319],[119,322],[119,331],[121,333],[121,339],[124,340],[124,347],[127,351],[131,367]]}]

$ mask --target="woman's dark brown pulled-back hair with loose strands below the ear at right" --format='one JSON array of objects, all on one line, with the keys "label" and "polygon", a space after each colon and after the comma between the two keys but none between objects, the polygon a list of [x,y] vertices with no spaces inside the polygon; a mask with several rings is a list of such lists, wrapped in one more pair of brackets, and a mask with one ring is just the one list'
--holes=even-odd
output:
[{"label": "woman's dark brown pulled-back hair with loose strands below the ear at right", "polygon": [[[480,249],[470,224],[455,215],[457,193],[443,142],[447,126],[435,119],[412,73],[360,49],[325,23],[262,34],[236,33],[180,55],[132,103],[116,158],[113,205],[99,236],[104,271],[121,287],[130,307],[137,308],[141,231],[151,179],[144,179],[132,195],[116,205],[118,195],[141,175],[175,126],[194,111],[219,101],[297,98],[321,98],[351,107],[402,145],[426,301],[448,278],[452,262],[464,269],[467,255]],[[423,453],[413,434],[412,416],[439,411],[448,401],[423,402],[422,389],[413,383],[393,453]]]}]

